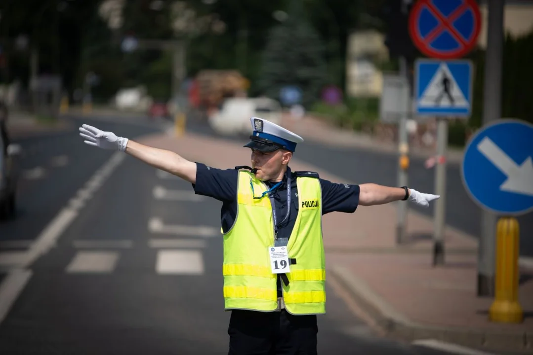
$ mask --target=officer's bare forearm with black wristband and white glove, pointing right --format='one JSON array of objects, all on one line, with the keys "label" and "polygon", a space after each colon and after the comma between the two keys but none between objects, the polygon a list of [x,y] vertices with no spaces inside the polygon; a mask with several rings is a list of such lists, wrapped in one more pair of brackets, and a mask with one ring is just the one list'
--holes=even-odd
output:
[{"label": "officer's bare forearm with black wristband and white glove, pointing right", "polygon": [[[437,200],[439,195],[424,194],[413,188],[407,189],[410,202],[414,202],[423,207],[429,207],[430,202]],[[389,187],[377,184],[359,185],[359,204],[361,206],[372,206],[376,204],[385,204],[405,199],[406,191],[401,187]]]}]

